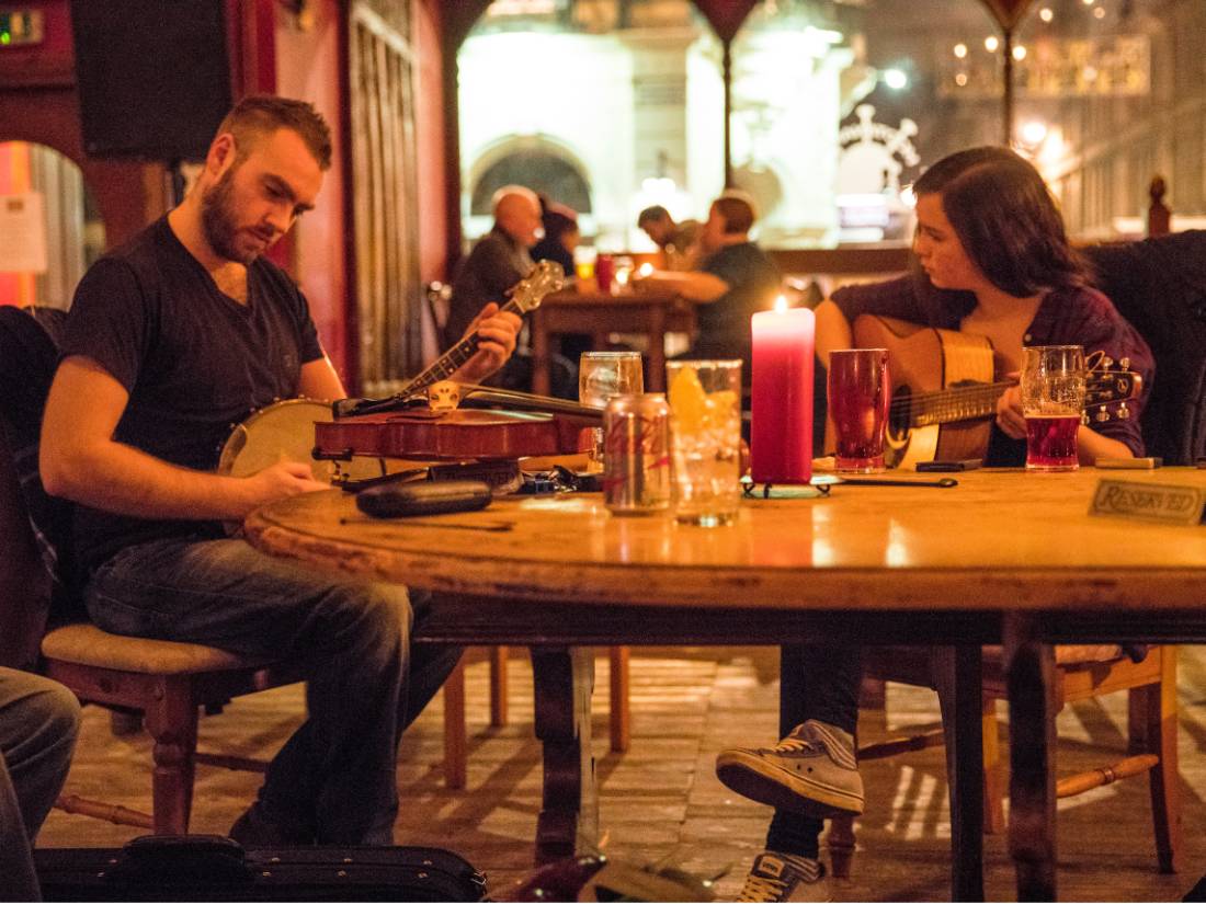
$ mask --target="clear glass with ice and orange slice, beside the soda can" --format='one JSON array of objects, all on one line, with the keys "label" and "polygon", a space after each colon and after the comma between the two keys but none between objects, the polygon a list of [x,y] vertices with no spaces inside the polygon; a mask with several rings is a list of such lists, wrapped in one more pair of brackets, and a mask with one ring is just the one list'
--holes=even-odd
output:
[{"label": "clear glass with ice and orange slice, beside the soda can", "polygon": [[742,363],[666,364],[674,463],[674,517],[731,524],[740,505]]}]

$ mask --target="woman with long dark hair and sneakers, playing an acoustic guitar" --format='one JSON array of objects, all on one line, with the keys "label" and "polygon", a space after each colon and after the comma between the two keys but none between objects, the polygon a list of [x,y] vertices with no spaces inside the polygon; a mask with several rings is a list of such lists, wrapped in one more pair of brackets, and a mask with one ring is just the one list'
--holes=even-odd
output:
[{"label": "woman with long dark hair and sneakers, playing an acoustic guitar", "polygon": [[[988,337],[1000,374],[1017,372],[1023,346],[1081,345],[1129,359],[1151,385],[1152,354],[1067,241],[1042,177],[1001,147],[952,154],[914,184],[917,272],[833,293],[816,307],[816,354],[853,344],[863,313]],[[1082,425],[1082,463],[1143,454],[1142,399],[1130,418]],[[1025,419],[1017,387],[997,401],[990,465],[1020,465]],[[818,861],[824,820],[862,812],[854,751],[862,677],[859,647],[783,648],[780,733],[772,749],[726,750],[716,774],[734,791],[775,808],[766,851],[755,858],[740,900],[829,900]]]}]

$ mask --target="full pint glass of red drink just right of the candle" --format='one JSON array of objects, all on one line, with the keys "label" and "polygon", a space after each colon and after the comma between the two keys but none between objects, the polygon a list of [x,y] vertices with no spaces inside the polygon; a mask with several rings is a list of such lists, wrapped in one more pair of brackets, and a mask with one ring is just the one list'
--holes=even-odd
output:
[{"label": "full pint glass of red drink just right of the candle", "polygon": [[833,418],[833,464],[838,472],[884,470],[884,430],[891,398],[886,348],[830,352],[829,415]]}]

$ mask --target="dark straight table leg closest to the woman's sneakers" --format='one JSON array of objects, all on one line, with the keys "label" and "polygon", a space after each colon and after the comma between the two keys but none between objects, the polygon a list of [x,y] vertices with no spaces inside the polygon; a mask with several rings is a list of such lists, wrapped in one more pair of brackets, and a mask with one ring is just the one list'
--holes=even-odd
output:
[{"label": "dark straight table leg closest to the woman's sneakers", "polygon": [[938,647],[933,679],[942,704],[950,783],[950,899],[984,900],[983,654],[978,644]]}]

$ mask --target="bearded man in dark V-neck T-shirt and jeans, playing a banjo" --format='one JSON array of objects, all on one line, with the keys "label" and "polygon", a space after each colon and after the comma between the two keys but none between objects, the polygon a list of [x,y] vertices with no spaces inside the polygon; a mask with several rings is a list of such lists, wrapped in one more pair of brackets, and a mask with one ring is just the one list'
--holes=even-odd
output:
[{"label": "bearded man in dark V-neck T-shirt and jeans, playing a banjo", "polygon": [[[105,630],[306,669],[306,721],[230,834],[250,846],[390,844],[394,758],[458,651],[410,650],[422,600],[228,539],[222,522],[323,489],[306,464],[213,472],[230,424],[275,399],[340,399],[306,300],[263,253],[311,210],[330,133],[302,101],[248,98],[185,201],[84,275],[42,424],[46,488],[77,504],[74,556]],[[519,318],[487,305],[455,378],[507,360]]]}]

